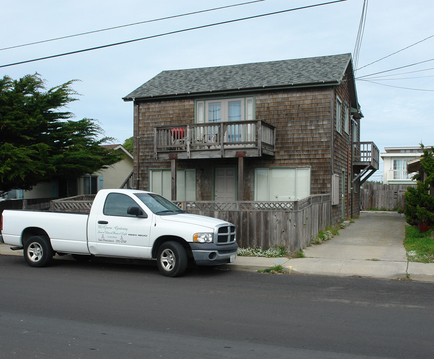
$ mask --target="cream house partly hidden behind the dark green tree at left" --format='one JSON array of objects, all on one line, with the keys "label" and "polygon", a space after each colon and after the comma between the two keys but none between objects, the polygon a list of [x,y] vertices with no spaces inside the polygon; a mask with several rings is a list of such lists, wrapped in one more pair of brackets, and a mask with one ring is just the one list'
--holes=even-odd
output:
[{"label": "cream house partly hidden behind the dark green tree at left", "polygon": [[[120,152],[124,159],[105,170],[74,179],[71,183],[59,181],[38,183],[31,190],[12,189],[4,199],[58,198],[78,194],[95,194],[103,188],[120,188],[133,173],[133,155],[122,145],[102,145]],[[67,188],[66,188],[67,187]],[[67,194],[66,194],[67,193]]]}]

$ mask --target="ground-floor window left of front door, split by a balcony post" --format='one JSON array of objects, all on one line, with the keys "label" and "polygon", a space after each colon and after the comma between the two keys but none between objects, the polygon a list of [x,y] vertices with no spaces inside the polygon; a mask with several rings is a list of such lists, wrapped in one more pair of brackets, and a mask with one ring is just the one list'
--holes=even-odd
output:
[{"label": "ground-floor window left of front door, split by a balcony post", "polygon": [[[149,172],[150,191],[171,198],[171,171]],[[196,170],[176,170],[176,200],[196,200]]]}]

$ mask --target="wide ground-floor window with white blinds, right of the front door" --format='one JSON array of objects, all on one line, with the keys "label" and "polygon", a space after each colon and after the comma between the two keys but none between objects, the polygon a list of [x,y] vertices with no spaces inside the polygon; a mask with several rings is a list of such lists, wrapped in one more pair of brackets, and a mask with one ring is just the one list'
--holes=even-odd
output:
[{"label": "wide ground-floor window with white blinds, right of the front door", "polygon": [[310,168],[255,170],[255,200],[293,201],[310,194]]}]

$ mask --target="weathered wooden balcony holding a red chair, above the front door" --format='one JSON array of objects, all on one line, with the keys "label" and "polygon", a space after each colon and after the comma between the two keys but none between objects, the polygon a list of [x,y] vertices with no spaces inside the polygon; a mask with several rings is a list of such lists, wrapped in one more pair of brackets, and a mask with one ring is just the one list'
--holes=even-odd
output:
[{"label": "weathered wooden balcony holding a red chair, above the front door", "polygon": [[264,121],[154,128],[155,160],[274,156],[275,143],[275,127]]}]

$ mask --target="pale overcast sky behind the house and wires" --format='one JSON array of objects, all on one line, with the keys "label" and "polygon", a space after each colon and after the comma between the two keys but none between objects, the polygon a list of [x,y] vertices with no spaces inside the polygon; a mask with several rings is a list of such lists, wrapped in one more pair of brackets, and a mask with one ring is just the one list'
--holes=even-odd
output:
[{"label": "pale overcast sky behind the house and wires", "polygon": [[[0,48],[248,1],[1,0]],[[4,49],[0,50],[0,65],[323,2],[327,1],[263,0]],[[421,142],[434,145],[431,114],[434,105],[434,37],[426,39],[434,35],[434,2],[366,2],[366,21],[356,66],[360,69],[356,71],[356,78],[376,77],[370,81],[377,83],[361,80],[356,83],[358,100],[365,116],[361,124],[361,141],[373,141],[380,152],[384,147],[415,146]],[[80,80],[73,85],[81,94],[80,100],[70,104],[69,111],[77,119],[99,120],[108,136],[123,143],[133,135],[133,104],[124,102],[122,97],[163,70],[340,53],[352,53],[354,61],[363,4],[363,0],[346,0],[169,34],[1,67],[0,75],[18,79],[38,72],[47,81],[47,87],[72,79]],[[422,61],[425,62],[409,66]],[[365,65],[368,66],[363,67]],[[403,68],[367,76],[399,67]],[[380,75],[387,77],[378,78]],[[379,171],[373,177],[379,179],[381,175]]]}]

